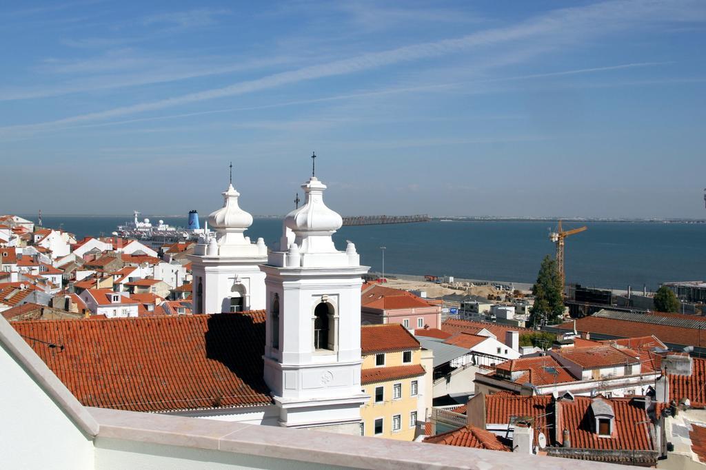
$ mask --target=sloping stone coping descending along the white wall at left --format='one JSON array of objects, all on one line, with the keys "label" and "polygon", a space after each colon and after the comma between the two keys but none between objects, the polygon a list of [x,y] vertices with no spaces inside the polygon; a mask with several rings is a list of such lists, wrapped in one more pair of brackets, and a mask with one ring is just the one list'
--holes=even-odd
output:
[{"label": "sloping stone coping descending along the white wall at left", "polygon": [[97,421],[2,316],[0,316],[0,345],[25,368],[28,375],[42,387],[42,390],[54,400],[87,438],[92,439],[97,435]]}]

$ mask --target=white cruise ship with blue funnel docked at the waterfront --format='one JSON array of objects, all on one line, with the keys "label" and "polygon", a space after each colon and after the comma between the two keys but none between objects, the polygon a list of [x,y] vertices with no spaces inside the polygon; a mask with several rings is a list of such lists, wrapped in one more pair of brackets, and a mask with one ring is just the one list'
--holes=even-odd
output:
[{"label": "white cruise ship with blue funnel docked at the waterfront", "polygon": [[138,215],[140,215],[140,212],[134,211],[133,219],[123,225],[119,225],[113,235],[126,239],[136,239],[143,243],[149,243],[152,247],[159,247],[167,243],[196,241],[199,236],[208,231],[208,228],[201,229],[196,210],[189,212],[189,224],[186,228],[174,227],[164,223],[164,220],[158,220],[157,224],[152,224],[150,219],[140,220]]}]

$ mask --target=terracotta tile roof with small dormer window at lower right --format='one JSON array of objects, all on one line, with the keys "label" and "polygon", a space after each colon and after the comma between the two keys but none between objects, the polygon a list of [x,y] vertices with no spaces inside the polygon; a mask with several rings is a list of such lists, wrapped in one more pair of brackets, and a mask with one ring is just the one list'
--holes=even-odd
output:
[{"label": "terracotta tile roof with small dormer window at lower right", "polygon": [[[610,438],[600,438],[590,410],[594,400],[609,404],[615,415],[614,432]],[[594,450],[654,450],[650,435],[650,423],[643,405],[630,398],[574,397],[560,400],[561,421],[557,427],[563,442],[563,430],[568,429],[571,447]]]}]

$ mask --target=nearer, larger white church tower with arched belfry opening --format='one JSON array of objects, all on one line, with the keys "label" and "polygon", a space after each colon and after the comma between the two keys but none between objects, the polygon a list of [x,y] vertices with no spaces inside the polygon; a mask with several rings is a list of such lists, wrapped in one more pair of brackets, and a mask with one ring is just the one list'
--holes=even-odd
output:
[{"label": "nearer, larger white church tower with arched belfry opening", "polygon": [[337,251],[341,216],[323,203],[326,186],[311,177],[304,205],[285,219],[280,251],[266,273],[265,382],[280,425],[360,433],[360,265],[353,243]]}]

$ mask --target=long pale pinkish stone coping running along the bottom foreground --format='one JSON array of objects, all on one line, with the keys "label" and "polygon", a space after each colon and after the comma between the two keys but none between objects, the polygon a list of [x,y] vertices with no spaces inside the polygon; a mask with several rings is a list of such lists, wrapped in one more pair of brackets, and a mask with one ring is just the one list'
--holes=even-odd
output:
[{"label": "long pale pinkish stone coping running along the bottom foreground", "polygon": [[[535,469],[595,470],[625,466],[556,457],[511,454],[467,447],[400,442],[310,429],[184,418],[87,408],[100,423],[97,438],[140,441],[200,450],[233,452],[360,469]],[[100,447],[100,442],[97,443]],[[530,459],[530,461],[528,461]]]}]

